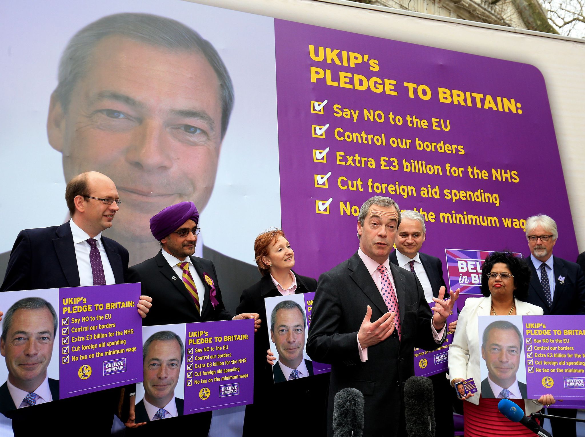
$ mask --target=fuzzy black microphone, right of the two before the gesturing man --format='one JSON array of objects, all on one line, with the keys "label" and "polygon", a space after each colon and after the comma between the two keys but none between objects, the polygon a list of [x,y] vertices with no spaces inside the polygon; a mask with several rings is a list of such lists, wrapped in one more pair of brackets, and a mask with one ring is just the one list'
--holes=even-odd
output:
[{"label": "fuzzy black microphone, right of the two before the gesturing man", "polygon": [[435,396],[430,379],[412,376],[404,383],[404,415],[408,437],[435,436]]}]

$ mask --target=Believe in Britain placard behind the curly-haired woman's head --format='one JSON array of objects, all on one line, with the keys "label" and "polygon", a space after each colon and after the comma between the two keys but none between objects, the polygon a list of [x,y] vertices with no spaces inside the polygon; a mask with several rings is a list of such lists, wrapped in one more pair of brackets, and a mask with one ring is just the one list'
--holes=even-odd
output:
[{"label": "Believe in Britain placard behind the curly-haired woman's head", "polygon": [[[480,293],[481,266],[492,252],[445,249],[449,289],[459,289],[460,293]],[[514,255],[522,258],[519,252],[514,252]]]}]

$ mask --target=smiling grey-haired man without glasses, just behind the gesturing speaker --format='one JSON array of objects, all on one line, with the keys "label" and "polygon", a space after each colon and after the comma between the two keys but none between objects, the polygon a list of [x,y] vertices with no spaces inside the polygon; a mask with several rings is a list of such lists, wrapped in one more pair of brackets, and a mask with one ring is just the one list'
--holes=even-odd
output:
[{"label": "smiling grey-haired man without glasses, just behind the gesturing speaker", "polygon": [[[441,259],[420,252],[426,240],[426,224],[421,213],[417,211],[402,211],[402,221],[398,226],[396,250],[388,259],[391,263],[402,267],[417,275],[425,293],[425,299],[432,303],[433,297],[439,297],[439,290],[445,287]],[[449,325],[449,330],[455,331],[456,322]],[[453,425],[453,401],[456,395],[445,376],[445,372],[431,375],[433,395],[435,397],[435,424],[436,437],[452,436],[455,433]]]}]

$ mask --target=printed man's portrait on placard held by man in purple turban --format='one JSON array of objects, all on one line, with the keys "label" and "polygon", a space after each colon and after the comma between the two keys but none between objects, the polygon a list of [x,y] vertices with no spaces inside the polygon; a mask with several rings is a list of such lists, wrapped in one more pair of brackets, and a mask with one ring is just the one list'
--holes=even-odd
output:
[{"label": "printed man's portrait on placard held by man in purple turban", "polygon": [[150,422],[183,415],[183,399],[175,397],[185,346],[171,331],[151,335],[142,346],[144,398],[136,404],[136,421]]}]

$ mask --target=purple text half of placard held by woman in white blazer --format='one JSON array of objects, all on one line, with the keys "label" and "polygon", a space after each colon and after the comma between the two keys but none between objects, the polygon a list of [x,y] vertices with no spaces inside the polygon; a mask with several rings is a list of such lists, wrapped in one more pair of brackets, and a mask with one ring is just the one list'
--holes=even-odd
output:
[{"label": "purple text half of placard held by woman in white blazer", "polygon": [[529,398],[550,393],[556,400],[585,400],[585,389],[565,387],[566,377],[585,381],[584,319],[583,315],[522,316]]}]

